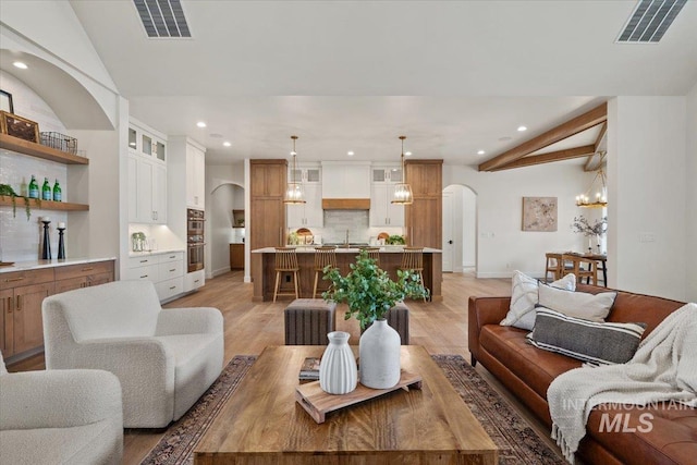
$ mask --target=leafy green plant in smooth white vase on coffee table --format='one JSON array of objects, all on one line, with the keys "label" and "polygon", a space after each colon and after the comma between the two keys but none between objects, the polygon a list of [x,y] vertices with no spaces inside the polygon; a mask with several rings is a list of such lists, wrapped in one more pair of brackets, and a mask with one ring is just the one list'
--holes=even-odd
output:
[{"label": "leafy green plant in smooth white vase on coffee table", "polygon": [[367,250],[360,250],[345,277],[337,268],[327,267],[323,279],[331,283],[322,293],[325,301],[347,304],[344,318],[355,316],[365,329],[358,346],[360,383],[374,389],[392,388],[400,381],[401,341],[387,325],[387,315],[398,302],[428,297],[429,291],[418,274],[408,270],[398,270],[398,280],[392,281]]}]

